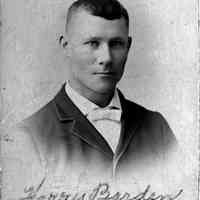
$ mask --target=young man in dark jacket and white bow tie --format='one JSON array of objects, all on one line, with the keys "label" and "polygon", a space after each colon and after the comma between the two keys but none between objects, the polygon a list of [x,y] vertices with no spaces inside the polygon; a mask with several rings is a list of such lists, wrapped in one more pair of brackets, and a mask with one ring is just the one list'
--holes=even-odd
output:
[{"label": "young man in dark jacket and white bow tie", "polygon": [[117,0],[71,5],[60,40],[70,78],[52,101],[17,125],[16,137],[26,142],[16,151],[31,163],[32,174],[44,173],[54,183],[65,177],[69,185],[137,176],[148,183],[166,166],[176,146],[167,122],[116,87],[131,41],[127,10]]}]

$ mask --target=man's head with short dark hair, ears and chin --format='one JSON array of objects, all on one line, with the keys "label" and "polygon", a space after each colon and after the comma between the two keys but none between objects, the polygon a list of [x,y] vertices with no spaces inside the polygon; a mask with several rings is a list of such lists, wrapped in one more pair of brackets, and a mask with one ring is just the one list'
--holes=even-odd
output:
[{"label": "man's head with short dark hair, ears and chin", "polygon": [[124,72],[129,17],[117,0],[77,0],[68,10],[63,40],[70,82],[83,96],[112,94]]}]

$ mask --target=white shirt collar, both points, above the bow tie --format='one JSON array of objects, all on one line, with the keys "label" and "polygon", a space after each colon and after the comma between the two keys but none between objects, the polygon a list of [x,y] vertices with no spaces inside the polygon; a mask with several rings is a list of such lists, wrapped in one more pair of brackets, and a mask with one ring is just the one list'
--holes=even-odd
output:
[{"label": "white shirt collar, both points, above the bow tie", "polygon": [[[65,84],[65,92],[70,97],[72,102],[80,109],[80,111],[84,115],[87,115],[94,109],[100,108],[98,105],[94,104],[87,98],[80,95],[76,90],[74,90],[69,85],[68,82]],[[121,103],[120,103],[119,94],[118,94],[117,89],[115,89],[114,96],[113,96],[112,100],[110,101],[109,105],[106,107],[115,107],[115,108],[118,108],[121,110]]]}]

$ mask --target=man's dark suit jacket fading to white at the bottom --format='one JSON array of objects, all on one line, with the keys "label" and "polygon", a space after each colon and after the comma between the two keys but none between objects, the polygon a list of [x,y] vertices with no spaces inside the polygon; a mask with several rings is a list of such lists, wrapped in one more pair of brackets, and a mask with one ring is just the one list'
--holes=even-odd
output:
[{"label": "man's dark suit jacket fading to white at the bottom", "polygon": [[60,170],[71,178],[102,181],[138,177],[148,183],[152,173],[163,173],[176,139],[161,114],[125,99],[120,92],[119,97],[122,130],[115,155],[66,95],[64,86],[52,101],[18,125],[33,141],[28,155],[34,148],[39,163],[52,174]]}]

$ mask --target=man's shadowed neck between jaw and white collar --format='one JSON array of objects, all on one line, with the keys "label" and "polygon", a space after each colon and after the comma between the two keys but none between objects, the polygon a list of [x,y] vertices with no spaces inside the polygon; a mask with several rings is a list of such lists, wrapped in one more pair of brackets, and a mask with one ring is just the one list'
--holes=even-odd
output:
[{"label": "man's shadowed neck between jaw and white collar", "polygon": [[100,107],[106,107],[114,96],[115,90],[109,91],[107,93],[99,93],[87,87],[79,87],[77,84],[74,84],[73,81],[69,81],[69,84],[80,95],[84,96]]}]

